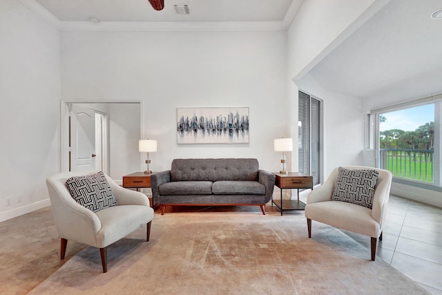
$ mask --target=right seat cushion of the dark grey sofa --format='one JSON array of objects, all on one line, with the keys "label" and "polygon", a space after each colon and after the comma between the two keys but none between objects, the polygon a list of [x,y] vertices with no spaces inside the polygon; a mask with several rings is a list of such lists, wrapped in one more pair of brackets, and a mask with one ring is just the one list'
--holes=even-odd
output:
[{"label": "right seat cushion of the dark grey sofa", "polygon": [[221,180],[212,184],[215,195],[265,195],[265,186],[257,181]]}]

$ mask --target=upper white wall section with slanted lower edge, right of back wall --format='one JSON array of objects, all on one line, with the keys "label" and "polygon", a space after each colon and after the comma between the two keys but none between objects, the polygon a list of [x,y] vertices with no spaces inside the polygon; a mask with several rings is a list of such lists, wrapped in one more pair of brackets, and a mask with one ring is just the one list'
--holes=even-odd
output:
[{"label": "upper white wall section with slanted lower edge, right of back wall", "polygon": [[[289,77],[300,77],[388,0],[305,0],[288,30]],[[376,6],[372,6],[376,2]],[[367,8],[372,8],[368,10]],[[365,15],[363,15],[363,13]],[[358,18],[361,19],[356,21]],[[345,32],[345,34],[344,34]]]}]

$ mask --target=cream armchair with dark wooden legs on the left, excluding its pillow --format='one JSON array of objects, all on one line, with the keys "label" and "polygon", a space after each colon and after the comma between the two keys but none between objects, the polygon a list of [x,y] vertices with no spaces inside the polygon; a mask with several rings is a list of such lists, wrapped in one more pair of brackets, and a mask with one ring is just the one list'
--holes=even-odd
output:
[{"label": "cream armchair with dark wooden legs on the left, excluding its pillow", "polygon": [[75,240],[100,249],[103,272],[107,272],[107,247],[124,238],[142,225],[147,225],[146,241],[149,240],[153,209],[144,193],[124,189],[108,175],[118,206],[97,212],[90,211],[77,203],[70,195],[66,180],[73,176],[90,175],[96,171],[58,173],[46,180],[52,213],[59,238],[61,255],[64,259],[68,240]]}]

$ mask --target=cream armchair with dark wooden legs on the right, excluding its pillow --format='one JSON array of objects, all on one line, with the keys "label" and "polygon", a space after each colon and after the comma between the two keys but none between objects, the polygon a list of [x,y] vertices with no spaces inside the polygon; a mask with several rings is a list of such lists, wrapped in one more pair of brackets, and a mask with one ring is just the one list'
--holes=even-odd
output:
[{"label": "cream armchair with dark wooden legs on the right, excluding its pillow", "polygon": [[374,169],[378,171],[376,187],[374,187],[373,207],[367,207],[332,200],[336,180],[338,178],[338,168],[334,169],[323,185],[314,189],[307,196],[305,206],[305,217],[307,218],[307,229],[311,238],[311,220],[332,225],[357,234],[370,236],[372,260],[376,256],[377,238],[382,240],[382,229],[385,215],[387,213],[387,203],[390,196],[392,184],[392,173],[383,169],[376,169],[364,166],[344,166],[346,169]]}]

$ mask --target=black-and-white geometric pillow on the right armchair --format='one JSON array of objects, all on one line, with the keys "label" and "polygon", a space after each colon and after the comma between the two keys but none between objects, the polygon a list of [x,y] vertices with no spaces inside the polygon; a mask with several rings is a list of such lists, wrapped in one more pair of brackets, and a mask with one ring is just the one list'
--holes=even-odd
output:
[{"label": "black-and-white geometric pillow on the right armchair", "polygon": [[350,202],[372,209],[373,194],[379,172],[372,169],[339,167],[332,200]]}]

